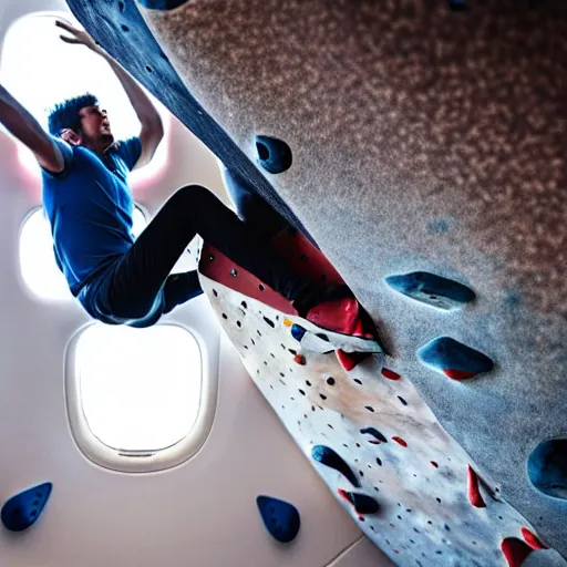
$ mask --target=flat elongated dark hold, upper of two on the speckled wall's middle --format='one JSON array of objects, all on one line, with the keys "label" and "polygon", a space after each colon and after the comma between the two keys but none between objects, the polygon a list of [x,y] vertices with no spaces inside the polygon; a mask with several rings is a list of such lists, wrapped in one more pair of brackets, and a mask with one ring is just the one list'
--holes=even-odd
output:
[{"label": "flat elongated dark hold, upper of two on the speckled wall's middle", "polygon": [[474,291],[463,284],[429,271],[389,276],[385,282],[400,293],[439,309],[454,309],[474,300]]}]

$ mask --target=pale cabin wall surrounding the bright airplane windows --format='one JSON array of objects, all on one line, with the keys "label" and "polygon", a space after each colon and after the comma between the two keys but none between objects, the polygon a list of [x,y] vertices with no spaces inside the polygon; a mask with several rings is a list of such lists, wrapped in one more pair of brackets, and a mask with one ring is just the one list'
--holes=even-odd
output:
[{"label": "pale cabin wall surrounding the bright airplane windows", "polygon": [[[49,0],[3,4],[0,34],[27,10],[61,8]],[[215,158],[176,120],[169,144],[165,169],[134,184],[136,200],[155,214],[176,188],[199,183],[228,203]],[[83,456],[66,416],[65,349],[92,321],[76,302],[33,298],[19,277],[19,231],[39,198],[39,179],[0,133],[0,504],[35,484],[53,483],[32,528],[0,529],[0,567],[322,567],[358,542],[355,523],[219,336],[205,297],[166,318],[181,324],[190,324],[197,312],[212,318],[207,334],[218,352],[218,401],[203,449],[185,464],[154,474],[114,473]],[[258,494],[299,508],[302,527],[295,543],[281,546],[266,534]],[[352,549],[344,557],[352,557]],[[362,555],[388,565],[373,546],[364,546]]]}]

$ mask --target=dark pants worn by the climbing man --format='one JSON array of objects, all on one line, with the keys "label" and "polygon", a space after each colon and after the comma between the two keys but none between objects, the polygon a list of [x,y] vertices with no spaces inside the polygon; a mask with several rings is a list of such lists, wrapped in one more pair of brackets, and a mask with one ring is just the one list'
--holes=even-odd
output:
[{"label": "dark pants worn by the climbing man", "polygon": [[287,299],[313,302],[317,291],[254,228],[199,185],[177,190],[132,248],[81,292],[81,302],[93,317],[111,324],[154,324],[163,313],[202,293],[196,271],[169,276],[197,234]]}]

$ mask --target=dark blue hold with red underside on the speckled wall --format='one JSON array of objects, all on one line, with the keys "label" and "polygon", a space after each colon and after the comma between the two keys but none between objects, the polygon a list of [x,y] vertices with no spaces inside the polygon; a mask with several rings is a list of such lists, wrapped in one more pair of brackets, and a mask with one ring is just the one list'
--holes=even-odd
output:
[{"label": "dark blue hold with red underside on the speckled wall", "polygon": [[417,357],[424,364],[453,380],[473,378],[494,368],[486,354],[449,337],[432,340],[417,351]]}]

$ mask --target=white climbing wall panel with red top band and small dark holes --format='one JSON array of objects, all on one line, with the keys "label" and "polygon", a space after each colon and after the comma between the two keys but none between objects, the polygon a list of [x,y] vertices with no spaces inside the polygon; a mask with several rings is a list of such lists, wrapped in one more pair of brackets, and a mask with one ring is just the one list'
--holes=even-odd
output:
[{"label": "white climbing wall panel with red top band and small dark holes", "polygon": [[[280,237],[276,247],[311,280],[341,281],[301,237]],[[446,433],[403,362],[381,353],[346,371],[336,349],[313,352],[292,332],[301,320],[288,301],[218,250],[204,246],[199,270],[250,377],[337,498],[396,565],[492,567],[507,559],[519,566],[546,547]]]}]

